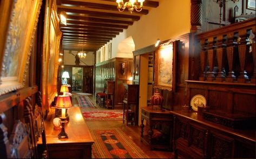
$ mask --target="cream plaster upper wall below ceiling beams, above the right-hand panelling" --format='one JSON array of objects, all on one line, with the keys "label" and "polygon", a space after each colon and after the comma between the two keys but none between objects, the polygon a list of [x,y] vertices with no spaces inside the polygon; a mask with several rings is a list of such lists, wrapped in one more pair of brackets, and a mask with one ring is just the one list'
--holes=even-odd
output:
[{"label": "cream plaster upper wall below ceiling beams, above the right-hand panelling", "polygon": [[[148,15],[141,16],[138,22],[134,22],[109,42],[112,43],[112,58],[126,57],[126,53],[155,44],[157,38],[164,41],[190,32],[190,6],[190,0],[161,0],[157,8],[151,9]],[[132,37],[135,47],[134,50],[127,47],[129,49],[124,51],[120,47],[125,48],[125,45],[120,46],[120,42],[128,37]],[[106,56],[107,53],[104,58],[101,57],[101,61],[107,60]]]}]

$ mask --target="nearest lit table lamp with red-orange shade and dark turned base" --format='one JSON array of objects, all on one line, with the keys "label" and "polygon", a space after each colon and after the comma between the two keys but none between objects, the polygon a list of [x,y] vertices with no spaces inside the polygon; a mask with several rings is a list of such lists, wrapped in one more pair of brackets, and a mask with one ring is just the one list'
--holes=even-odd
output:
[{"label": "nearest lit table lamp with red-orange shade and dark turned base", "polygon": [[65,123],[67,122],[66,109],[72,107],[72,103],[68,95],[59,95],[56,102],[56,108],[61,109],[61,133],[58,134],[58,139],[68,138],[68,134],[65,133]]}]

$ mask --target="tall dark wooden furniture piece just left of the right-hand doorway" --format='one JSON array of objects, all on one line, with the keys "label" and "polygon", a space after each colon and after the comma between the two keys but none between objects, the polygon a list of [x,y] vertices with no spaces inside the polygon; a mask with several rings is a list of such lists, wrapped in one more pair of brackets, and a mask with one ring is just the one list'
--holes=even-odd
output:
[{"label": "tall dark wooden furniture piece just left of the right-hand doorway", "polygon": [[126,121],[127,125],[130,122],[138,125],[138,93],[139,85],[123,84],[124,98],[123,98],[123,123]]}]

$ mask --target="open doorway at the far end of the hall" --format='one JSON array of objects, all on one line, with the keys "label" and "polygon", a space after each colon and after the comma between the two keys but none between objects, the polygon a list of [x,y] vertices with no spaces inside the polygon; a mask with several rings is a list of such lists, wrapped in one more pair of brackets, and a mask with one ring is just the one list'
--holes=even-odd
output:
[{"label": "open doorway at the far end of the hall", "polygon": [[83,88],[83,68],[72,67],[72,92],[82,92]]}]

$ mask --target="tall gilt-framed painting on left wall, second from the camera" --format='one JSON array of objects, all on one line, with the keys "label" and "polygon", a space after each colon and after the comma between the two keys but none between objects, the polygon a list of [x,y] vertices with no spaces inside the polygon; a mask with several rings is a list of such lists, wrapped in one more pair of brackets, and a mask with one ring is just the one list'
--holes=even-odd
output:
[{"label": "tall gilt-framed painting on left wall, second from the camera", "polygon": [[44,15],[44,37],[42,57],[42,102],[43,109],[49,110],[57,94],[58,53],[60,52],[61,31],[57,16],[56,1],[47,0]]}]

